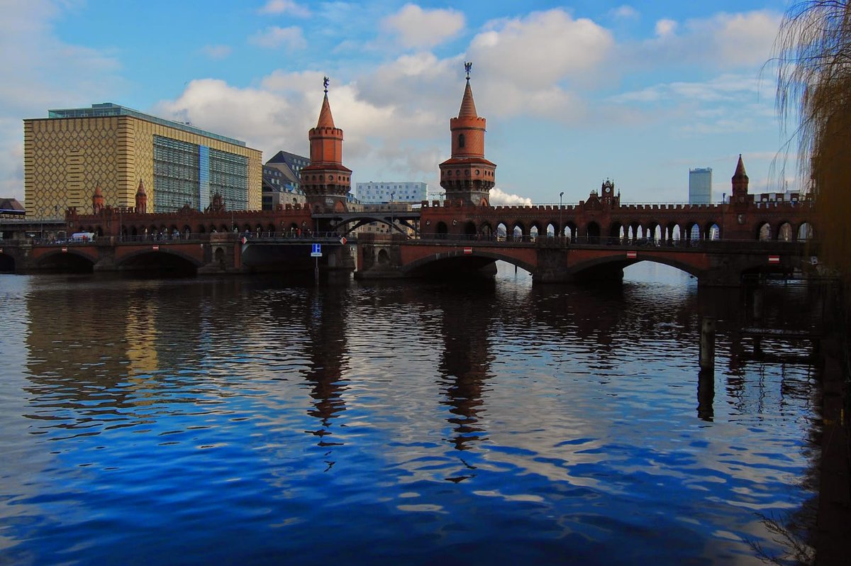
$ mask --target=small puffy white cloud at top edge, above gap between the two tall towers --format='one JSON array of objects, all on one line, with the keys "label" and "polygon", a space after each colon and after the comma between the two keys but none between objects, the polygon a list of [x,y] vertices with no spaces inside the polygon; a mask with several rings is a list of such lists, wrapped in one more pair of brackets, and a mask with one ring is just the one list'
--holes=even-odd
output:
[{"label": "small puffy white cloud at top edge, above gap between the two tall towers", "polygon": [[404,47],[433,47],[464,29],[464,14],[454,9],[424,10],[405,4],[396,14],[381,20],[381,27],[397,35]]}]

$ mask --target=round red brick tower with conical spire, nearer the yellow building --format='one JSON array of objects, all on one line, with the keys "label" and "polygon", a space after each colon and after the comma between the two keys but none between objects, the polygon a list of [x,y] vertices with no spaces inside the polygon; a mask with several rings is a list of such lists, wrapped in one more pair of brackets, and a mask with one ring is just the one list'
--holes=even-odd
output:
[{"label": "round red brick tower with conical spire, nearer the yellow building", "polygon": [[328,104],[328,77],[324,78],[325,99],[316,128],[311,128],[311,164],[301,169],[301,188],[314,209],[345,212],[351,189],[351,169],[343,165],[343,130],[334,126]]}]

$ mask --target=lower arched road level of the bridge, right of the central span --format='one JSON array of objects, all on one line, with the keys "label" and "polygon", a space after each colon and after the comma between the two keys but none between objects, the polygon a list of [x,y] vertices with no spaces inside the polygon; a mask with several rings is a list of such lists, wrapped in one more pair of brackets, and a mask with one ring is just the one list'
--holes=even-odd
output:
[{"label": "lower arched road level of the bridge, right of the central span", "polygon": [[502,260],[530,272],[534,283],[620,281],[625,267],[651,261],[688,272],[700,285],[738,286],[743,277],[752,275],[814,272],[810,254],[814,243],[804,242],[362,237],[355,277],[464,277],[488,273],[495,261]]}]

